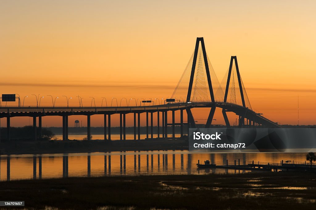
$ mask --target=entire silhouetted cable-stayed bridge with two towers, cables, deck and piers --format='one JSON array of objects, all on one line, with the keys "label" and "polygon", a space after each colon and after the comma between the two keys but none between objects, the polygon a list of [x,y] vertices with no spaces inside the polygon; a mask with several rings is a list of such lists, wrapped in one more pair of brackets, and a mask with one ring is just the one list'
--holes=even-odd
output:
[{"label": "entire silhouetted cable-stayed bridge with two towers, cables, deck and piers", "polygon": [[[150,101],[151,102],[151,101]],[[210,108],[205,128],[212,124],[216,108],[222,109],[226,126],[231,127],[227,112],[233,112],[239,116],[238,127],[281,127],[276,122],[264,117],[252,109],[246,89],[242,82],[237,63],[237,57],[231,56],[228,71],[221,82],[218,81],[214,69],[205,50],[204,39],[197,38],[193,54],[175,88],[171,98],[165,104],[149,106],[106,106],[106,107],[0,107],[0,118],[7,119],[7,140],[10,140],[10,118],[28,116],[33,117],[33,138],[41,136],[42,117],[62,116],[63,140],[68,140],[68,116],[86,115],[88,140],[91,137],[90,116],[94,114],[104,115],[104,139],[111,140],[111,115],[120,115],[120,139],[125,139],[126,114],[134,116],[134,139],[140,139],[140,114],[146,113],[146,131],[149,138],[149,114],[150,137],[153,138],[153,114],[157,114],[158,138],[167,138],[168,125],[172,126],[172,136],[175,138],[175,125],[180,125],[181,137],[184,136],[184,125],[187,129],[196,128],[192,108]],[[141,105],[141,104],[140,104]],[[187,123],[184,123],[183,113],[187,114]],[[168,111],[172,112],[172,122],[168,121]],[[175,112],[180,112],[180,123],[175,123]],[[38,128],[36,125],[39,118]],[[160,120],[161,118],[161,120]],[[1,125],[0,125],[1,126]],[[36,130],[39,129],[39,132]],[[188,131],[186,132],[188,133]]]}]

